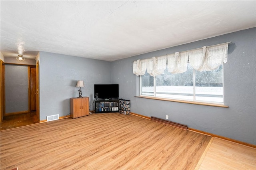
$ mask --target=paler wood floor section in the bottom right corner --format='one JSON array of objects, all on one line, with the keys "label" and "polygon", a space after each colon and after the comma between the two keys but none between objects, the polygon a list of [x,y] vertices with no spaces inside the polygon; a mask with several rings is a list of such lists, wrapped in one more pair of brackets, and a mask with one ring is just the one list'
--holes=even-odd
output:
[{"label": "paler wood floor section in the bottom right corner", "polygon": [[256,170],[256,149],[220,138],[214,138],[200,170]]}]

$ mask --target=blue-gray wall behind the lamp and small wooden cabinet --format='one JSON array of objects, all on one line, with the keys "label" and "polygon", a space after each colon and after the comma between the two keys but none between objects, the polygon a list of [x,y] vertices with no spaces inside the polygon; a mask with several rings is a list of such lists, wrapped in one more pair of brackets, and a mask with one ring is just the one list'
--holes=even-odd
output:
[{"label": "blue-gray wall behind the lamp and small wooden cabinet", "polygon": [[111,83],[109,61],[40,51],[39,62],[40,120],[70,113],[70,98],[79,96],[78,80],[84,81],[82,96],[89,97],[90,105],[94,100],[94,84]]}]

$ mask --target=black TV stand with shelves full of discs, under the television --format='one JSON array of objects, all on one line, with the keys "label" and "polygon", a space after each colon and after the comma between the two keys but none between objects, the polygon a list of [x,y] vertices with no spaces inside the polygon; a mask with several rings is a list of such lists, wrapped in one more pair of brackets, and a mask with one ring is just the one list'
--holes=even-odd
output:
[{"label": "black TV stand with shelves full of discs, under the television", "polygon": [[118,112],[118,99],[98,99],[95,100],[95,113]]}]

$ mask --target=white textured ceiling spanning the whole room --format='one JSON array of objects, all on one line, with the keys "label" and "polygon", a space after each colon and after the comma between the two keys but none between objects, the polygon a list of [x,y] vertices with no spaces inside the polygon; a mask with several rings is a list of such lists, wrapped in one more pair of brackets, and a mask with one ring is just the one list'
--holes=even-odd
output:
[{"label": "white textured ceiling spanning the whole room", "polygon": [[256,27],[256,1],[0,1],[1,52],[114,61]]}]

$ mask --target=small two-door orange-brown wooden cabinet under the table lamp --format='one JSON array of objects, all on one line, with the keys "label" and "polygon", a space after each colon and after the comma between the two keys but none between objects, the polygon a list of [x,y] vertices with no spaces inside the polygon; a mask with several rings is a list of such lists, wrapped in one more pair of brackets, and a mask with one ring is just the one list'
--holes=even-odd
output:
[{"label": "small two-door orange-brown wooden cabinet under the table lamp", "polygon": [[89,97],[71,98],[70,99],[70,117],[78,118],[90,115]]}]

